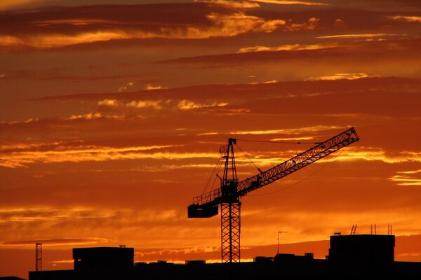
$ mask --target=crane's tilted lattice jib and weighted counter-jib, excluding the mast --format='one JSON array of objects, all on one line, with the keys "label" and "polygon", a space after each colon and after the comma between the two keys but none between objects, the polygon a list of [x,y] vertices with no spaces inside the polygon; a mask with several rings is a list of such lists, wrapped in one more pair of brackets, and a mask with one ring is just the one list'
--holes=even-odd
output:
[{"label": "crane's tilted lattice jib and weighted counter-jib, excluding the mast", "polygon": [[[302,169],[307,165],[311,165],[313,162],[316,162],[331,153],[335,153],[335,151],[338,151],[356,141],[359,141],[358,134],[356,134],[354,127],[349,128],[349,130],[321,142],[316,146],[309,148],[309,150],[295,155],[295,157],[290,158],[271,169],[267,169],[265,172],[240,181],[236,186],[236,196],[242,197],[247,195],[252,190],[256,190],[268,185],[269,183],[273,183],[274,181]],[[210,216],[215,216],[218,214],[218,204],[221,202],[221,188],[212,190],[209,193],[204,193],[198,197],[194,197],[193,204],[190,204],[188,208],[189,218],[208,218]]]}]

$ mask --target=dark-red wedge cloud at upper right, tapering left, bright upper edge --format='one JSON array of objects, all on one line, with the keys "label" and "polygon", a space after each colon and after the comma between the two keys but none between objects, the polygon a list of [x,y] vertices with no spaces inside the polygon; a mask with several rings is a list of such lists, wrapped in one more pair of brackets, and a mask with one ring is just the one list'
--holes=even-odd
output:
[{"label": "dark-red wedge cloud at upper right, tapering left, bright upper edge", "polygon": [[[284,45],[278,47],[253,46],[241,48],[239,52],[226,53],[222,55],[201,55],[196,57],[180,57],[156,62],[158,64],[206,64],[214,66],[241,66],[244,64],[271,63],[279,61],[295,62],[298,59],[346,59],[347,65],[355,59],[362,59],[362,65],[368,59],[372,62],[383,63],[385,59],[417,59],[417,50],[421,45],[421,38],[416,36],[410,38],[389,38],[376,37],[378,34],[348,34],[319,36],[317,38],[351,38],[352,41],[332,42],[313,45]],[[382,34],[384,35],[384,34]],[[356,38],[362,40],[354,40]],[[378,38],[378,39],[374,39]],[[368,39],[368,40],[367,40]],[[349,62],[349,59],[352,62]],[[330,61],[329,61],[330,62]],[[359,66],[361,69],[361,66]],[[396,69],[393,68],[393,73]]]}]

